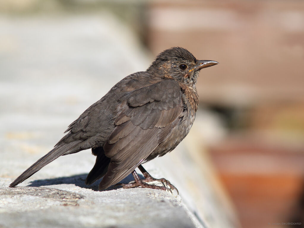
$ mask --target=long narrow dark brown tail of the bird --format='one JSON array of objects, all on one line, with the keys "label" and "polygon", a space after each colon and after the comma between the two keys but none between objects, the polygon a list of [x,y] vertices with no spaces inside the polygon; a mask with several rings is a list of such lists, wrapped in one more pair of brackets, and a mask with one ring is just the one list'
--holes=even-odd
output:
[{"label": "long narrow dark brown tail of the bird", "polygon": [[36,161],[34,164],[32,164],[26,171],[24,171],[19,177],[14,180],[9,187],[15,187],[22,181],[26,180],[30,176],[32,176],[34,173],[39,171],[43,166],[49,164],[51,161],[54,161],[56,158],[60,157],[61,155],[65,154],[72,154],[76,153],[82,149],[78,149],[78,143],[73,142],[69,144],[59,145],[54,147],[53,150],[51,150],[49,153],[41,157],[38,161]]}]

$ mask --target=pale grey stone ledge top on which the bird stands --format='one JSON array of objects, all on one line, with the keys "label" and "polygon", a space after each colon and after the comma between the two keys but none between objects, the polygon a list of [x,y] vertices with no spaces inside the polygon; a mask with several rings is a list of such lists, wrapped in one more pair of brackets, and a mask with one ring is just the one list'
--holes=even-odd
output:
[{"label": "pale grey stone ledge top on which the bird stands", "polygon": [[[90,150],[8,185],[117,81],[150,63],[111,15],[0,17],[0,227],[199,227],[174,192],[86,186]],[[153,175],[162,174],[145,166]],[[122,182],[128,183],[129,175]],[[161,184],[161,183],[157,183]]]}]

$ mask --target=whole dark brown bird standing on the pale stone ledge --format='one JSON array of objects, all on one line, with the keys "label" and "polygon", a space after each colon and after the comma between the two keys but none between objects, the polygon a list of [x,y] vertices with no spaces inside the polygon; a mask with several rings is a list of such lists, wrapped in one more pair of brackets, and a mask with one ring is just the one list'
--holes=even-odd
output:
[{"label": "whole dark brown bird standing on the pale stone ledge", "polygon": [[[182,47],[164,50],[146,71],[123,78],[86,109],[68,126],[54,148],[9,187],[15,187],[62,155],[92,149],[96,161],[86,185],[102,178],[100,191],[111,185],[176,189],[164,178],[153,178],[142,164],[172,151],[188,134],[199,105],[199,71],[216,64],[212,60],[197,60]],[[130,173],[133,182],[119,183]],[[161,181],[163,186],[148,184],[150,181]]]}]

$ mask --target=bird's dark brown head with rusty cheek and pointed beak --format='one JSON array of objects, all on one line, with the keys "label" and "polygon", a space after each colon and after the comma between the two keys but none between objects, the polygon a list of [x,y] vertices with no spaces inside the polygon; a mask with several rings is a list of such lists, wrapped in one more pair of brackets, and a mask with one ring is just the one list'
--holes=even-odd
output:
[{"label": "bird's dark brown head with rusty cheek and pointed beak", "polygon": [[173,78],[195,87],[199,71],[216,64],[218,64],[216,61],[197,60],[185,48],[172,47],[158,54],[147,71],[162,78]]}]

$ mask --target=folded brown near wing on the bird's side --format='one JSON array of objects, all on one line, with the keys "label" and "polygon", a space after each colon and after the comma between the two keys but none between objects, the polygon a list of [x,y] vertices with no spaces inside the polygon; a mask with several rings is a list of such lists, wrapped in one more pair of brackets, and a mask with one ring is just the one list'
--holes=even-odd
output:
[{"label": "folded brown near wing on the bird's side", "polygon": [[115,128],[104,145],[111,158],[99,189],[116,184],[140,165],[168,136],[183,111],[177,81],[168,79],[127,93]]}]

